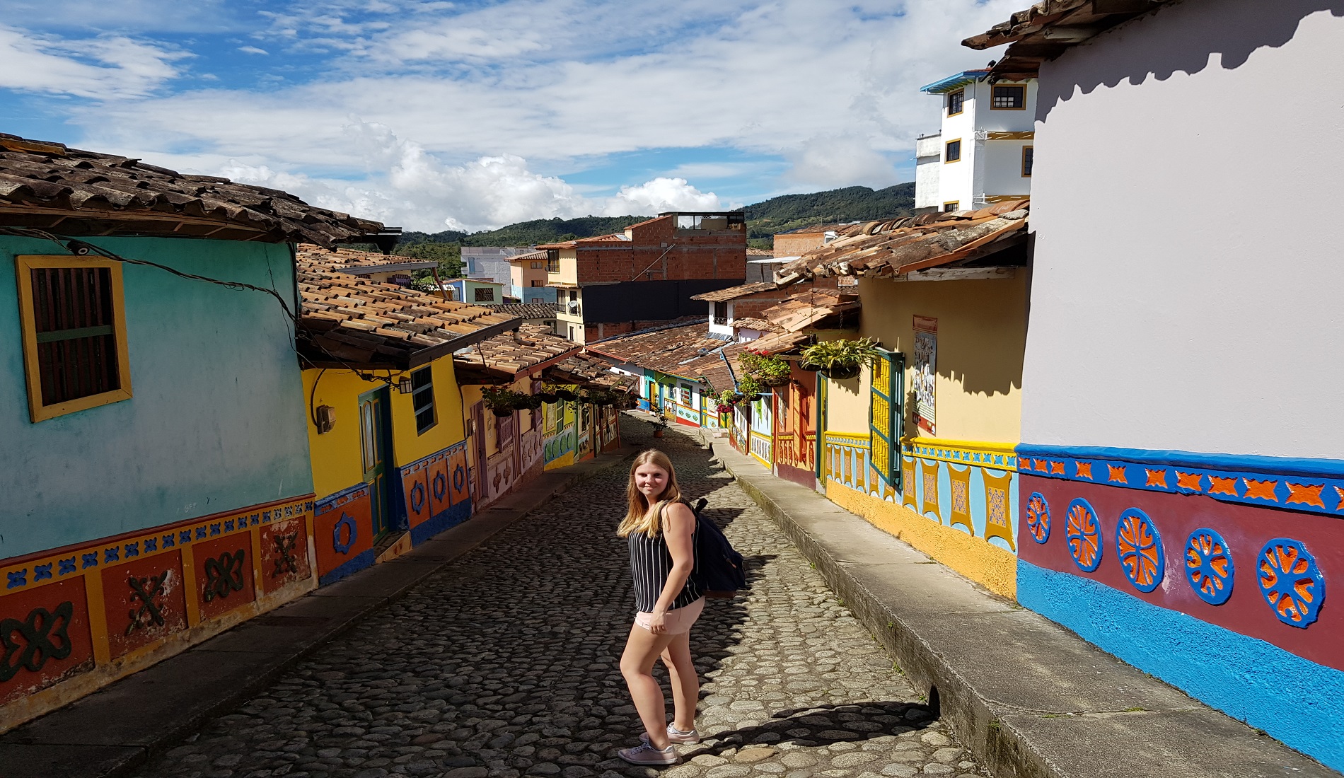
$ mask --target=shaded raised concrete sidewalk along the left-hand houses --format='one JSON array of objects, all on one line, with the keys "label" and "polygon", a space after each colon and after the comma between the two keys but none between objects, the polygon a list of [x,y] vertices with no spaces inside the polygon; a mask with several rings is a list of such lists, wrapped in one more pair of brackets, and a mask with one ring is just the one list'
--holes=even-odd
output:
[{"label": "shaded raised concrete sidewalk along the left-hand houses", "polygon": [[632,458],[617,451],[543,473],[470,520],[0,735],[4,778],[124,778],[300,660],[558,494]]}]

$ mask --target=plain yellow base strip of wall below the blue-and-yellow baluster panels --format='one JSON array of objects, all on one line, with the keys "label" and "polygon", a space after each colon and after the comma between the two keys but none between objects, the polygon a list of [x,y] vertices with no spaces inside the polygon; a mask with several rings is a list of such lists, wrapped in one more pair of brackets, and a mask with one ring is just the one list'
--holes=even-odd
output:
[{"label": "plain yellow base strip of wall below the blue-and-yellow baluster panels", "polygon": [[872,525],[895,535],[930,558],[989,591],[1017,598],[1017,556],[1011,551],[945,527],[895,503],[879,500],[827,478],[827,499]]}]

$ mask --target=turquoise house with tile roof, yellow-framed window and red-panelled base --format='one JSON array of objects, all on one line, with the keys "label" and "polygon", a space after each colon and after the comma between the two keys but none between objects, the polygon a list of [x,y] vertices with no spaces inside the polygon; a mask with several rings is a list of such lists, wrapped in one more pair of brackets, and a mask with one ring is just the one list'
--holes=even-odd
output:
[{"label": "turquoise house with tile roof, yellow-framed window and red-panelled base", "polygon": [[316,586],[290,243],[380,224],[12,136],[0,169],[8,730]]}]

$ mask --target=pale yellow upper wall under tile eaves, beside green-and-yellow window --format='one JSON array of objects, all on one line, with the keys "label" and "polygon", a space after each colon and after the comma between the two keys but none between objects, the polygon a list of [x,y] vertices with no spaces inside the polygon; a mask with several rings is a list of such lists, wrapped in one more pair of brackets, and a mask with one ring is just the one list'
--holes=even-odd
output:
[{"label": "pale yellow upper wall under tile eaves, beside green-and-yellow window", "polygon": [[907,392],[914,375],[914,317],[938,320],[937,437],[1012,443],[1021,439],[1025,269],[1012,278],[978,281],[860,278],[859,296],[859,335],[906,355]]}]

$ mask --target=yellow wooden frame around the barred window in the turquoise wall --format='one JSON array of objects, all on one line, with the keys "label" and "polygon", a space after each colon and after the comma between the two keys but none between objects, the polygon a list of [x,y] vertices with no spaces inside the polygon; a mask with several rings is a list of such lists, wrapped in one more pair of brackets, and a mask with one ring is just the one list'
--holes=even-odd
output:
[{"label": "yellow wooden frame around the barred window in the turquoise wall", "polygon": [[[117,343],[117,383],[118,388],[95,395],[75,398],[50,406],[42,404],[42,371],[38,363],[38,325],[32,301],[32,270],[44,267],[106,267],[112,284],[113,337]],[[24,376],[28,384],[28,419],[38,423],[75,411],[83,411],[109,403],[129,400],[130,355],[126,349],[126,301],[122,294],[121,262],[116,259],[32,255],[15,257],[15,273],[19,286],[19,327],[23,337]]]}]

